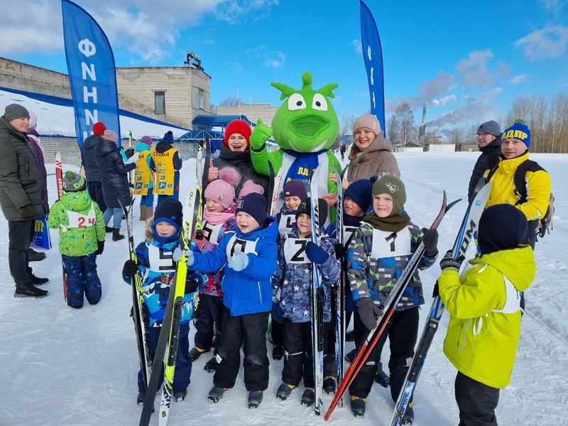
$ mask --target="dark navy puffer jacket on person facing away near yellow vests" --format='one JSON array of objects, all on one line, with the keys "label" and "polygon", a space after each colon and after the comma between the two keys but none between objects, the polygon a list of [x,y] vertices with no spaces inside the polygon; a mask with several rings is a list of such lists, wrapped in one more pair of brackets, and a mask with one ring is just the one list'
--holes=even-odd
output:
[{"label": "dark navy puffer jacket on person facing away near yellow vests", "polygon": [[116,143],[103,139],[97,145],[97,165],[107,207],[128,206],[131,202],[128,173],[136,168],[136,162],[125,165]]}]

